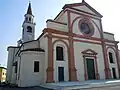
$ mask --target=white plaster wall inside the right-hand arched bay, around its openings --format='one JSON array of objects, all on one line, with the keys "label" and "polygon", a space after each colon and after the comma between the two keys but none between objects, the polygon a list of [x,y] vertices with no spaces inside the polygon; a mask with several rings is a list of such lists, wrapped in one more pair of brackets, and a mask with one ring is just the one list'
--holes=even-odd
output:
[{"label": "white plaster wall inside the right-hand arched bay, around its openings", "polygon": [[[114,63],[110,63],[110,60],[109,60],[109,52],[111,52],[112,55],[113,55],[113,62],[114,62]],[[114,50],[111,49],[111,48],[109,48],[108,51],[107,51],[107,56],[108,56],[109,68],[110,68],[110,70],[111,70],[112,78],[113,78],[112,68],[115,68],[115,70],[116,70],[116,76],[117,76],[117,78],[119,78],[118,67],[117,67],[117,58],[116,58],[116,54],[115,54]]]}]

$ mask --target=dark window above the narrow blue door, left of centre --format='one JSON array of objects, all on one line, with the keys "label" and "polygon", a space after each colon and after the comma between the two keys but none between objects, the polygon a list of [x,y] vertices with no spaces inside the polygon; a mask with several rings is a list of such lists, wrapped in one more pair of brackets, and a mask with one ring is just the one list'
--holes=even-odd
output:
[{"label": "dark window above the narrow blue door, left of centre", "polygon": [[56,59],[58,61],[63,61],[64,60],[64,55],[63,55],[63,47],[57,46],[56,47]]}]

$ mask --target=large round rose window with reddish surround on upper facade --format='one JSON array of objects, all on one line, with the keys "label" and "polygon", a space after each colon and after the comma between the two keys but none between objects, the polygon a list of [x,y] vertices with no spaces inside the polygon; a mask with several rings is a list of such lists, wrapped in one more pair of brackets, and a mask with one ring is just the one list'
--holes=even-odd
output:
[{"label": "large round rose window with reddish surround on upper facade", "polygon": [[92,36],[94,34],[94,26],[87,18],[81,19],[78,23],[80,32],[85,36]]}]

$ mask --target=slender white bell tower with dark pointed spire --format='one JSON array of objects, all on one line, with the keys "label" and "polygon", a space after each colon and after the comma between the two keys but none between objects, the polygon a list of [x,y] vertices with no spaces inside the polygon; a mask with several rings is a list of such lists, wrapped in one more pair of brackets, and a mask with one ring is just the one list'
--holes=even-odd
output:
[{"label": "slender white bell tower with dark pointed spire", "polygon": [[35,38],[35,23],[34,16],[32,14],[31,3],[29,2],[27,13],[25,14],[25,19],[22,24],[22,43],[34,40]]}]

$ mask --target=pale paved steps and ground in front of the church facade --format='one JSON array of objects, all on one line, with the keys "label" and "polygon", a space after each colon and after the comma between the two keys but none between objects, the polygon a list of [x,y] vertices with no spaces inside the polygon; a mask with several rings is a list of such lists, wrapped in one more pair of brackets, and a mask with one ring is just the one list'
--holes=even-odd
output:
[{"label": "pale paved steps and ground in front of the church facade", "polygon": [[40,85],[53,90],[120,90],[120,80],[89,80],[82,82],[56,82]]}]

